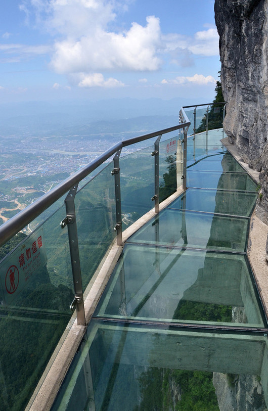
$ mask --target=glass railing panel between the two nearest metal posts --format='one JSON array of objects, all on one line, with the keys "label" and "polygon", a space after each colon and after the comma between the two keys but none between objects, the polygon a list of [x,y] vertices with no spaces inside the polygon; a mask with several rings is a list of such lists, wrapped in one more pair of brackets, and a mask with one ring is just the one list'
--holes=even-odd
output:
[{"label": "glass railing panel between the two nearest metal posts", "polygon": [[113,168],[112,162],[75,196],[83,290],[116,236]]}]

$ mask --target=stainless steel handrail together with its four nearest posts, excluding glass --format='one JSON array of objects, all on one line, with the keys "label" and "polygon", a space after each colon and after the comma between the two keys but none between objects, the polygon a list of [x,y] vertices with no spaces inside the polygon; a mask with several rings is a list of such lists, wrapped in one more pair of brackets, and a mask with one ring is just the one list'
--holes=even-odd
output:
[{"label": "stainless steel handrail together with its four nearest posts, excluding glass", "polygon": [[66,180],[57,185],[54,189],[44,194],[42,197],[37,199],[31,205],[26,207],[24,210],[20,211],[10,220],[5,222],[0,226],[0,247],[3,246],[8,240],[14,237],[18,232],[20,232],[24,227],[27,226],[31,221],[33,221],[37,216],[39,216],[44,210],[48,209],[52,204],[59,200],[68,191],[67,197],[65,198],[66,207],[66,217],[61,221],[61,227],[68,226],[68,238],[69,238],[69,248],[71,256],[72,265],[72,275],[73,275],[73,285],[74,285],[74,300],[71,307],[76,307],[77,311],[77,323],[80,325],[85,325],[85,313],[83,305],[83,289],[82,289],[82,279],[81,279],[81,269],[80,269],[80,259],[79,259],[79,249],[78,249],[78,234],[76,226],[76,214],[75,214],[75,195],[77,192],[79,182],[88,176],[91,172],[96,170],[98,166],[103,164],[107,159],[115,154],[113,158],[114,168],[112,170],[112,175],[114,175],[115,181],[115,205],[116,205],[116,224],[114,231],[117,235],[117,244],[122,245],[122,216],[121,216],[121,199],[120,199],[120,163],[119,157],[123,147],[127,147],[145,140],[157,137],[155,142],[154,151],[152,156],[155,159],[155,194],[152,197],[152,201],[155,202],[155,212],[159,212],[159,142],[163,134],[169,133],[175,130],[182,130],[184,133],[184,164],[183,164],[183,187],[186,189],[186,150],[187,150],[187,131],[190,126],[190,121],[184,110],[181,109],[180,112],[180,124],[173,127],[165,128],[153,133],[138,136],[136,138],[131,138],[128,140],[121,141],[104,154],[97,157],[90,164],[83,167],[81,170],[75,172]]}]

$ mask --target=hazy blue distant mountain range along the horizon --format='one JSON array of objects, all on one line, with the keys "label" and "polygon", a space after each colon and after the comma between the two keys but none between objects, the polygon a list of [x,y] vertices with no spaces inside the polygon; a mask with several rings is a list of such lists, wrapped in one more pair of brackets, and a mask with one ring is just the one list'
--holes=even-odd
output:
[{"label": "hazy blue distant mountain range along the horizon", "polygon": [[181,106],[191,102],[182,102],[179,98],[125,98],[0,104],[0,136],[48,133],[88,135],[123,130],[157,130],[176,124]]}]

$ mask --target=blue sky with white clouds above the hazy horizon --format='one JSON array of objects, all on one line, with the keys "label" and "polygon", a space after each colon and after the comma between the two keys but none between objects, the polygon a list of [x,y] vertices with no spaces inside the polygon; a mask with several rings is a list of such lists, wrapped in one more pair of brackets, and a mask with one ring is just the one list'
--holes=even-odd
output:
[{"label": "blue sky with white clouds above the hazy horizon", "polygon": [[220,70],[214,0],[5,0],[0,102],[180,97]]}]

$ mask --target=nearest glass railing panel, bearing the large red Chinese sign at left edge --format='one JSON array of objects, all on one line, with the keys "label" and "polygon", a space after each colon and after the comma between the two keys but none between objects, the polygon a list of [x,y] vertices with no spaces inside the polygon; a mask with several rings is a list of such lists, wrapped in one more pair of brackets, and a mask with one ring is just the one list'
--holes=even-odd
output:
[{"label": "nearest glass railing panel, bearing the large red Chinese sign at left edge", "polygon": [[62,206],[29,236],[13,237],[0,263],[1,409],[25,408],[72,315],[68,232],[60,227],[65,216]]}]

